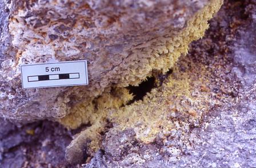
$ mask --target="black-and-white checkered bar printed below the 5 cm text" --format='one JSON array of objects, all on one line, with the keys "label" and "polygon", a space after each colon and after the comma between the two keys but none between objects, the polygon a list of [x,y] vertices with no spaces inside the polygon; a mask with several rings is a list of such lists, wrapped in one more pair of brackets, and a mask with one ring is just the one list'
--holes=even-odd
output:
[{"label": "black-and-white checkered bar printed below the 5 cm text", "polygon": [[60,79],[79,79],[79,73],[61,73],[53,75],[37,75],[37,76],[27,76],[27,81],[44,81],[44,80],[60,80]]}]

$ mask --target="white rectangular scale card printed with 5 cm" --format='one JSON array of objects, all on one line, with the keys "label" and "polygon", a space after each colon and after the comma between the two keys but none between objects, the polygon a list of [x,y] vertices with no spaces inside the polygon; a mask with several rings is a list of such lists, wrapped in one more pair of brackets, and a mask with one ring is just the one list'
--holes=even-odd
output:
[{"label": "white rectangular scale card printed with 5 cm", "polygon": [[87,60],[21,65],[22,88],[88,85]]}]

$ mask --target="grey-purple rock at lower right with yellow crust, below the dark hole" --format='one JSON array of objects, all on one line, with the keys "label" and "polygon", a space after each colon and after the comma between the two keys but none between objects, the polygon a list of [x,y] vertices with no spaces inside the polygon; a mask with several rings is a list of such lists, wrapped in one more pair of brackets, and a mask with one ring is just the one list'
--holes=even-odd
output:
[{"label": "grey-purple rock at lower right with yellow crust, below the dark hole", "polygon": [[[114,127],[103,140],[108,143],[87,166],[101,162],[108,167],[255,167],[255,9],[256,1],[226,1],[206,36],[191,43],[189,54],[179,60],[177,69],[156,92],[111,113],[115,114]],[[181,84],[185,87],[179,88]],[[210,93],[202,91],[202,85]],[[191,104],[182,104],[179,96],[187,93]],[[167,108],[166,100],[178,104]],[[186,108],[191,107],[197,113],[202,110],[197,114],[198,126],[186,115]],[[171,115],[173,112],[176,114]],[[137,150],[127,149],[129,154],[121,155],[123,144],[113,145],[117,143],[109,137],[120,140],[127,130],[134,130],[140,141],[129,147]],[[145,162],[125,162],[135,154],[142,158],[145,149],[154,149]],[[121,161],[115,160],[120,156],[124,156]]]}]

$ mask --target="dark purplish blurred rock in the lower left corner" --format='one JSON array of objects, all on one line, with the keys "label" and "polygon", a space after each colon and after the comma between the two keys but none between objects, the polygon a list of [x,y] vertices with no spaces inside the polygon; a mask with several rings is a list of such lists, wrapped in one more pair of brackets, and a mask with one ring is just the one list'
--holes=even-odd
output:
[{"label": "dark purplish blurred rock in the lower left corner", "polygon": [[0,167],[77,167],[65,161],[72,133],[60,124],[38,121],[17,127],[0,121]]}]

